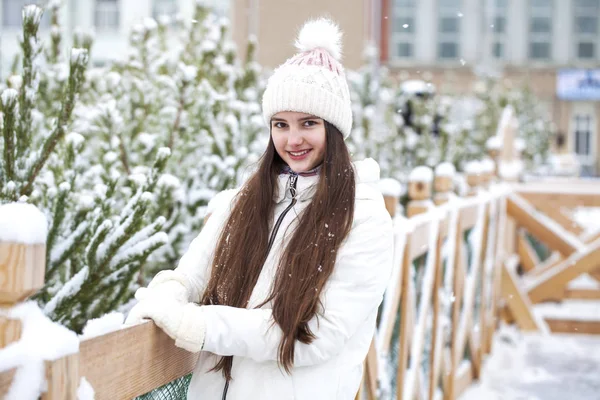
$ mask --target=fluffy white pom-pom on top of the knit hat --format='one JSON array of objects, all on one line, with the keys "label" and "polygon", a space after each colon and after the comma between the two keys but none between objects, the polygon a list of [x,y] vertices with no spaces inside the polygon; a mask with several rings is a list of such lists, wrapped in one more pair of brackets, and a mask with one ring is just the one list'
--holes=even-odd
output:
[{"label": "fluffy white pom-pom on top of the knit hat", "polygon": [[296,48],[301,52],[321,48],[341,61],[342,32],[333,21],[326,18],[308,21],[298,33]]}]

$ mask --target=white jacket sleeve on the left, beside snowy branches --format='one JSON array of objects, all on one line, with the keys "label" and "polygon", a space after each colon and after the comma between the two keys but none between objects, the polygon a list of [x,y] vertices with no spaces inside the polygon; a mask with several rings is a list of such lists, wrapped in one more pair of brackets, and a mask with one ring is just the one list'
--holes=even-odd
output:
[{"label": "white jacket sleeve on the left, beside snowy branches", "polygon": [[188,250],[179,260],[177,268],[174,271],[168,271],[169,275],[175,275],[176,279],[184,284],[188,291],[189,301],[197,302],[204,293],[214,249],[223,224],[229,216],[236,193],[236,191],[228,190],[217,194],[215,199],[219,200],[219,205],[210,215],[198,236],[192,240]]}]

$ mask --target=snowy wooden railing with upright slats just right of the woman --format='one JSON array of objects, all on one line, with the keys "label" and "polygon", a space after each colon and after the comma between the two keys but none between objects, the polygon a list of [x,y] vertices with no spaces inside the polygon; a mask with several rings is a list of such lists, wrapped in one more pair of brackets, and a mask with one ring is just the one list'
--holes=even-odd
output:
[{"label": "snowy wooden railing with upright slats just right of the woman", "polygon": [[358,399],[455,399],[491,351],[509,189],[477,174],[470,197],[442,195],[448,178],[435,177],[437,205],[431,181],[412,180],[410,218],[394,219],[395,270]]}]

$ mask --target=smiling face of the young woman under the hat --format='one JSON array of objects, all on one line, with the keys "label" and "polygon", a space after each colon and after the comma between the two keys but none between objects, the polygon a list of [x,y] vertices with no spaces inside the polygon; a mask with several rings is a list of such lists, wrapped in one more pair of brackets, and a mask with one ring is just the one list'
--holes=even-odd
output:
[{"label": "smiling face of the young woman under the hat", "polygon": [[294,172],[306,172],[325,157],[325,121],[314,115],[282,111],[271,118],[277,154]]}]

